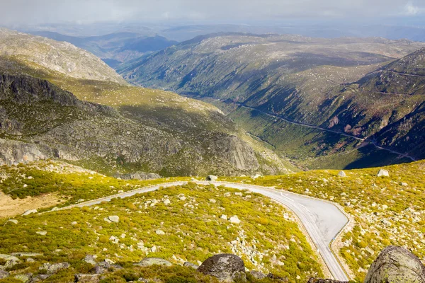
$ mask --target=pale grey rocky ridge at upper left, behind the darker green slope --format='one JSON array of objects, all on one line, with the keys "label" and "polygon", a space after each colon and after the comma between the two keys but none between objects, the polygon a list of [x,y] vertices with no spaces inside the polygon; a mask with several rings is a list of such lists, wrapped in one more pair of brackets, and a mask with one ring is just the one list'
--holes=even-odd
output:
[{"label": "pale grey rocky ridge at upper left, behind the darker green slope", "polygon": [[125,83],[101,59],[68,42],[57,42],[0,28],[0,54],[16,56],[76,79]]}]

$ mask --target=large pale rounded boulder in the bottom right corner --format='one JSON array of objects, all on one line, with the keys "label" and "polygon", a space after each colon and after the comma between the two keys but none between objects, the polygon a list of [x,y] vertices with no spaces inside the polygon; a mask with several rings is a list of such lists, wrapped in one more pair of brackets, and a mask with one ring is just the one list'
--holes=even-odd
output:
[{"label": "large pale rounded boulder in the bottom right corner", "polygon": [[425,267],[409,250],[389,246],[378,255],[365,278],[365,283],[387,282],[425,283]]}]

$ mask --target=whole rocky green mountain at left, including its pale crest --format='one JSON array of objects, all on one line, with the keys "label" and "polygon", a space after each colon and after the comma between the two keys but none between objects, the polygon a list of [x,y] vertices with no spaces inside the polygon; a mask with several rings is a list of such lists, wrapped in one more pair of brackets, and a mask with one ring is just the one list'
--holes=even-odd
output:
[{"label": "whole rocky green mountain at left, including its pale crest", "polygon": [[[60,158],[111,175],[138,171],[169,176],[286,170],[280,158],[212,105],[176,93],[115,82],[113,78],[118,74],[99,59],[98,68],[84,67],[85,57],[96,57],[72,45],[5,33],[6,46],[2,47],[8,50],[8,56],[0,57],[4,76],[3,163]],[[16,46],[16,36],[32,53],[28,51],[23,57],[20,50],[7,47],[8,42]],[[60,49],[62,46],[66,49]],[[57,54],[55,60],[37,64],[41,52],[37,47],[42,47],[45,54]],[[75,57],[81,67],[70,73],[56,64],[72,62]],[[95,70],[103,67],[111,78],[94,80]],[[82,79],[86,72],[89,76]],[[58,103],[56,97],[72,103]],[[81,100],[91,101],[94,110],[88,111]]]}]

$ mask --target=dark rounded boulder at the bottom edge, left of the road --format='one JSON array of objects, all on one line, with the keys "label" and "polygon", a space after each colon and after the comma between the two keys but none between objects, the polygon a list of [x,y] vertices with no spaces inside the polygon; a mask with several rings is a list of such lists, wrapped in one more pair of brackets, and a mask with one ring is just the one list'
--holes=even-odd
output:
[{"label": "dark rounded boulder at the bottom edge, left of the road", "polygon": [[244,261],[237,255],[227,253],[208,258],[198,267],[198,271],[224,282],[232,282],[237,278],[246,280]]}]

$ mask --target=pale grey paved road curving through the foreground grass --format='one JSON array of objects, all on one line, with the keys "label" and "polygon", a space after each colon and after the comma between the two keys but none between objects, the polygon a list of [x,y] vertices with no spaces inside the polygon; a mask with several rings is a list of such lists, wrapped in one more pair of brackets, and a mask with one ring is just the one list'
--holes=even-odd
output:
[{"label": "pale grey paved road curving through the foreground grass", "polygon": [[[152,192],[158,190],[159,187],[171,187],[175,185],[184,185],[187,182],[173,182],[173,183],[162,183],[158,185],[152,185],[149,187],[141,187],[136,190],[130,190],[128,192],[122,192],[117,195],[110,195],[108,197],[101,197],[97,200],[90,200],[88,202],[81,202],[79,204],[73,204],[69,207],[62,207],[60,209],[54,209],[52,211],[71,209],[73,207],[88,207],[101,202],[111,201],[113,198],[125,198],[137,195],[143,192]],[[300,219],[305,230],[312,239],[314,245],[317,248],[317,252],[322,256],[326,263],[331,275],[336,280],[348,281],[346,272],[343,267],[339,264],[339,261],[335,258],[329,248],[331,241],[334,240],[336,235],[341,229],[346,226],[348,219],[346,216],[331,202],[314,199],[312,197],[306,197],[304,195],[298,195],[293,192],[287,192],[285,190],[275,190],[270,187],[261,187],[257,185],[246,185],[242,183],[229,183],[229,182],[210,182],[210,181],[196,181],[200,185],[225,185],[225,187],[232,187],[239,190],[249,190],[256,192],[266,197],[270,197],[272,200],[283,204],[292,210]]]}]

